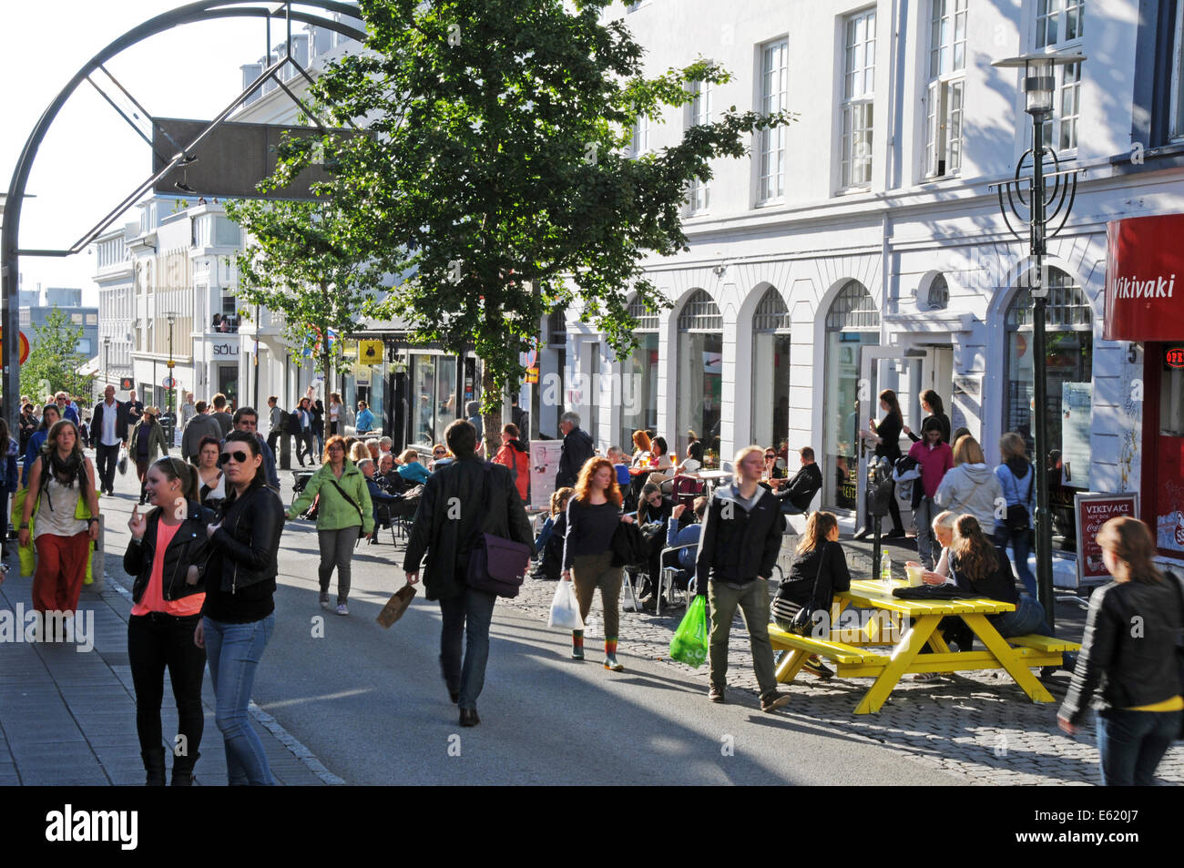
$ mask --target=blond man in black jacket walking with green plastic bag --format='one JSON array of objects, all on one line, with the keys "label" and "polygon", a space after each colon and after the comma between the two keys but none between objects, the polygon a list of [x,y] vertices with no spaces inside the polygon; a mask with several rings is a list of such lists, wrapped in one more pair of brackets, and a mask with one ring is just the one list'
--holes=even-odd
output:
[{"label": "blond man in black jacket walking with green plastic bag", "polygon": [[745,446],[735,455],[735,482],[712,494],[695,561],[695,587],[707,593],[712,610],[712,702],[723,702],[728,671],[728,631],[739,607],[748,630],[752,663],[760,687],[760,708],[773,712],[790,701],[777,692],[773,647],[768,641],[768,579],[777,564],[785,516],[762,488],[765,450]]}]

